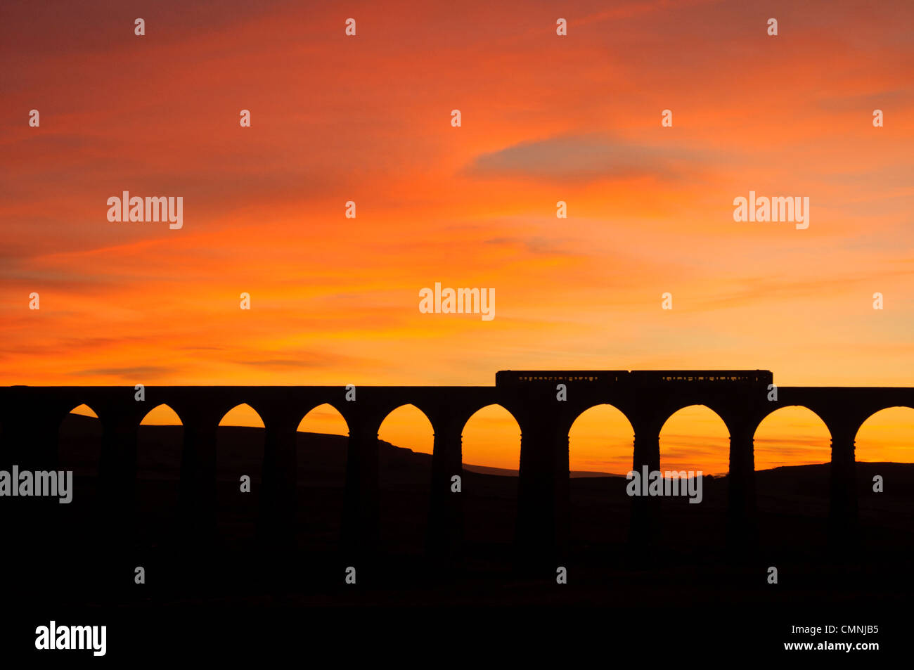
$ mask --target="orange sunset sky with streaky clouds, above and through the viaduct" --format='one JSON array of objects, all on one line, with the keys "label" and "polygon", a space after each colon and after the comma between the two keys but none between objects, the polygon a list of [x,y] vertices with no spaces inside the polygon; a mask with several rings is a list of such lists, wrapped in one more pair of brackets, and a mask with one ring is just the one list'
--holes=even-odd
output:
[{"label": "orange sunset sky with streaky clouds, above and through the viaduct", "polygon": [[[912,386],[912,24],[908,0],[6,0],[0,384]],[[809,197],[809,229],[735,222],[750,190]],[[122,191],[183,197],[183,228],[109,222]],[[494,319],[421,314],[435,282],[493,288]],[[627,472],[613,411],[576,424],[572,469]],[[867,423],[858,458],[910,462],[912,417]],[[430,451],[423,420],[381,437]],[[464,461],[516,467],[516,433],[484,410]],[[709,410],[663,435],[663,465],[726,471]],[[807,410],[757,437],[760,467],[828,460]]]}]

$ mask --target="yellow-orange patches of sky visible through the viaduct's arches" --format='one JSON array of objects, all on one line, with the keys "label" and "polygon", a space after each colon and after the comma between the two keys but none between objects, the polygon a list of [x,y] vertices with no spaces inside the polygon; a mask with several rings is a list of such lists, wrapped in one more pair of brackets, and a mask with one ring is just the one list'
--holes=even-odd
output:
[{"label": "yellow-orange patches of sky visible through the viaduct's arches", "polygon": [[[97,418],[80,405],[72,410]],[[141,425],[181,425],[165,404],[151,409]],[[249,405],[231,409],[220,426],[263,428]],[[298,426],[300,432],[349,434],[342,415],[328,404],[312,409]],[[569,431],[569,469],[572,472],[624,474],[632,468],[632,426],[619,409],[598,405],[583,412]],[[418,453],[431,453],[432,426],[412,405],[392,411],[382,422],[378,438]],[[831,461],[831,436],[812,410],[777,409],[761,421],[754,439],[755,469]],[[520,464],[520,428],[506,409],[490,405],[467,421],[462,435],[463,463],[517,470]],[[710,409],[693,405],[680,409],[664,423],[660,439],[661,469],[702,470],[726,474],[729,469],[727,427]],[[858,462],[914,462],[914,409],[889,408],[870,417],[856,436]]]}]

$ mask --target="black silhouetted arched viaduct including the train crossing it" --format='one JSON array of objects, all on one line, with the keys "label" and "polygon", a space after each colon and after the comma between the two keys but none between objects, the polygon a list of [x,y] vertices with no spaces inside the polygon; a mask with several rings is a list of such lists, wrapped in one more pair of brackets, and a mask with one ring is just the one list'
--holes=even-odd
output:
[{"label": "black silhouetted arched viaduct including the train crossing it", "polygon": [[[567,400],[558,399],[558,385]],[[56,469],[58,428],[71,409],[87,404],[103,428],[100,491],[112,523],[129,523],[133,509],[137,428],[152,408],[167,404],[184,426],[180,474],[180,518],[191,536],[215,528],[216,435],[219,420],[239,404],[255,409],[265,426],[260,489],[262,537],[282,543],[292,537],[295,509],[296,431],[303,416],[324,403],[337,409],[349,428],[344,538],[349,548],[370,550],[378,536],[377,432],[388,414],[414,405],[434,430],[429,548],[435,554],[462,544],[462,495],[451,478],[462,473],[462,431],[478,409],[501,405],[521,431],[517,542],[540,555],[566,541],[569,514],[569,430],[586,409],[609,404],[634,429],[632,468],[660,470],[659,434],[677,410],[705,405],[730,435],[728,537],[744,541],[755,526],[753,436],[760,421],[786,406],[811,409],[832,438],[831,526],[839,532],[856,523],[854,441],[863,422],[880,409],[914,408],[914,388],[780,387],[771,400],[771,372],[682,371],[504,371],[494,387],[358,387],[356,400],[343,387],[133,387],[0,388],[2,463],[20,469]],[[654,502],[632,498],[632,535],[651,533]],[[121,515],[119,517],[119,515]]]}]

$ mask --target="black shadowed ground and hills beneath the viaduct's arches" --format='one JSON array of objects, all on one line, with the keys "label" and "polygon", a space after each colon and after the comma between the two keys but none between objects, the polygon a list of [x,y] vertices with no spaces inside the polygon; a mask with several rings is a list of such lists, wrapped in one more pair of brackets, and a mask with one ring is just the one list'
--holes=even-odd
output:
[{"label": "black shadowed ground and hills beneath the viaduct's arches", "polygon": [[[297,548],[277,555],[255,536],[262,432],[219,431],[218,546],[191,551],[175,537],[181,429],[143,427],[136,527],[112,548],[102,543],[94,501],[98,428],[70,416],[60,466],[77,475],[74,502],[58,505],[48,520],[57,555],[32,557],[16,537],[3,542],[2,601],[13,616],[0,644],[27,653],[36,626],[55,619],[107,625],[112,659],[187,650],[304,653],[315,645],[333,645],[337,654],[386,646],[409,654],[435,643],[443,660],[483,653],[478,645],[485,643],[515,660],[512,654],[558,648],[597,649],[607,658],[736,653],[727,658],[800,654],[814,661],[883,657],[908,646],[914,465],[858,463],[859,537],[840,549],[826,537],[827,464],[757,473],[758,548],[738,554],[725,545],[726,478],[706,479],[701,505],[664,499],[647,550],[627,542],[631,499],[623,478],[572,479],[568,555],[555,567],[519,572],[515,477],[464,471],[464,557],[432,566],[423,555],[430,456],[383,443],[381,550],[353,566],[356,584],[346,584],[349,562],[339,546],[345,438],[300,436]],[[250,494],[239,492],[242,474],[251,476]],[[885,493],[872,491],[876,474]],[[138,566],[144,584],[134,583]],[[559,567],[567,569],[566,584],[557,583]],[[777,584],[769,583],[771,567]],[[849,625],[878,632],[842,633]],[[783,648],[823,641],[877,642],[880,649]]]}]

